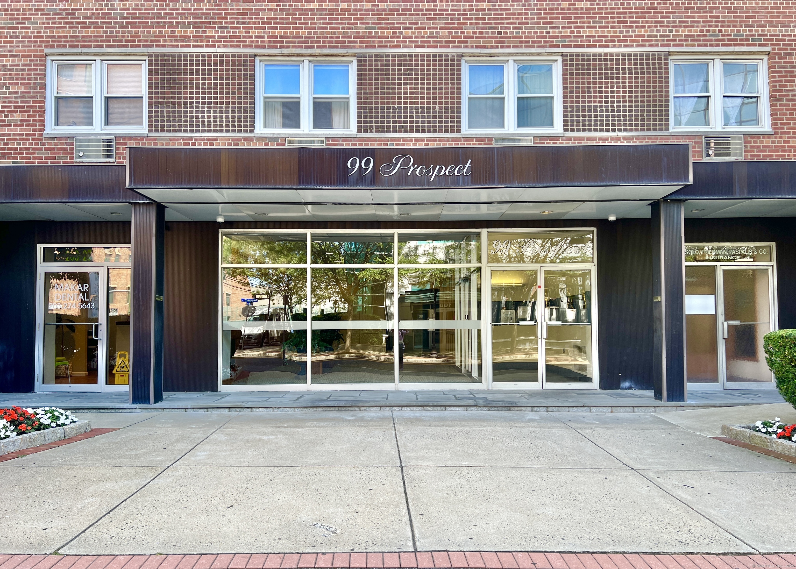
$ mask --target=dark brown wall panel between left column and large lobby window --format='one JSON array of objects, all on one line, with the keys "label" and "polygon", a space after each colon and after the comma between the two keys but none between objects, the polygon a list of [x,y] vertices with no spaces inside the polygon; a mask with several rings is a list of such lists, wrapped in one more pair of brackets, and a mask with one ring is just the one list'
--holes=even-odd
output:
[{"label": "dark brown wall panel between left column and large lobby window", "polygon": [[169,222],[163,240],[163,391],[218,386],[218,224]]}]

